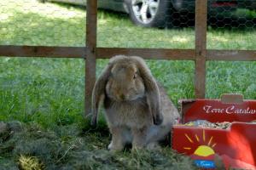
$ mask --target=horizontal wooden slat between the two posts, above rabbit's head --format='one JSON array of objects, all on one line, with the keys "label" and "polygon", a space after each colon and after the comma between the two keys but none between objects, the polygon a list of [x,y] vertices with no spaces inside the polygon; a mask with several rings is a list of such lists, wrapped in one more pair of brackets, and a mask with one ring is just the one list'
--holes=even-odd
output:
[{"label": "horizontal wooden slat between the two posts, above rabbit's head", "polygon": [[108,59],[113,55],[137,55],[144,59],[175,59],[194,60],[194,49],[164,49],[164,48],[97,48],[97,59]]}]

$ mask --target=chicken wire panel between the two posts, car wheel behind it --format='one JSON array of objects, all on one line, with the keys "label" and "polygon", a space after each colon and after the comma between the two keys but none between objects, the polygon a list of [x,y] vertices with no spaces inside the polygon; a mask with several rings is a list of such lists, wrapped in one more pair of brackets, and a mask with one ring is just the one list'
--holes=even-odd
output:
[{"label": "chicken wire panel between the two posts, car wheel behind it", "polygon": [[[100,10],[97,46],[103,48],[195,48],[195,2],[189,3],[182,12],[172,6],[171,0],[148,1],[146,9],[143,9],[146,6],[143,2],[143,0],[133,0],[125,3],[129,14],[124,10],[122,12]],[[150,7],[151,3],[159,3],[157,9],[154,5]]]}]

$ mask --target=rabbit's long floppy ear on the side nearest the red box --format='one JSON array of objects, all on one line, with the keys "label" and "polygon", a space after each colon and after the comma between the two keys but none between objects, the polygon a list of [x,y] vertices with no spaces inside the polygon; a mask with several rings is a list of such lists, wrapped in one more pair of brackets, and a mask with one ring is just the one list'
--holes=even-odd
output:
[{"label": "rabbit's long floppy ear on the side nearest the red box", "polygon": [[146,88],[147,102],[153,116],[154,124],[159,125],[162,122],[162,113],[160,110],[160,92],[157,82],[155,82],[154,77],[143,59],[139,57],[132,58],[137,61],[139,74],[143,78]]}]

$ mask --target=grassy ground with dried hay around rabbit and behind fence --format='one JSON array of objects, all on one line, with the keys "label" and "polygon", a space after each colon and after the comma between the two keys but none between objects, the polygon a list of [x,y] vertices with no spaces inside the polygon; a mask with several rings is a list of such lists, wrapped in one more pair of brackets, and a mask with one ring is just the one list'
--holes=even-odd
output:
[{"label": "grassy ground with dried hay around rabbit and behind fence", "polygon": [[[6,0],[0,6],[1,45],[85,44],[84,8],[33,0]],[[207,48],[256,49],[253,28],[209,27],[207,37]],[[194,48],[195,30],[142,28],[134,26],[125,14],[100,11],[97,38],[99,47]],[[97,75],[107,62],[97,60]],[[175,105],[178,99],[195,97],[193,62],[147,63]],[[208,62],[207,98],[241,93],[245,99],[256,99],[253,72],[255,62]],[[0,58],[0,120],[9,122],[9,129],[13,124],[20,126],[14,120],[23,123],[14,134],[0,133],[0,169],[17,169],[20,155],[37,156],[43,164],[55,166],[47,169],[72,169],[71,165],[77,169],[191,169],[187,158],[168,148],[108,153],[105,148],[110,138],[104,119],[91,131],[83,114],[84,59]]]}]

